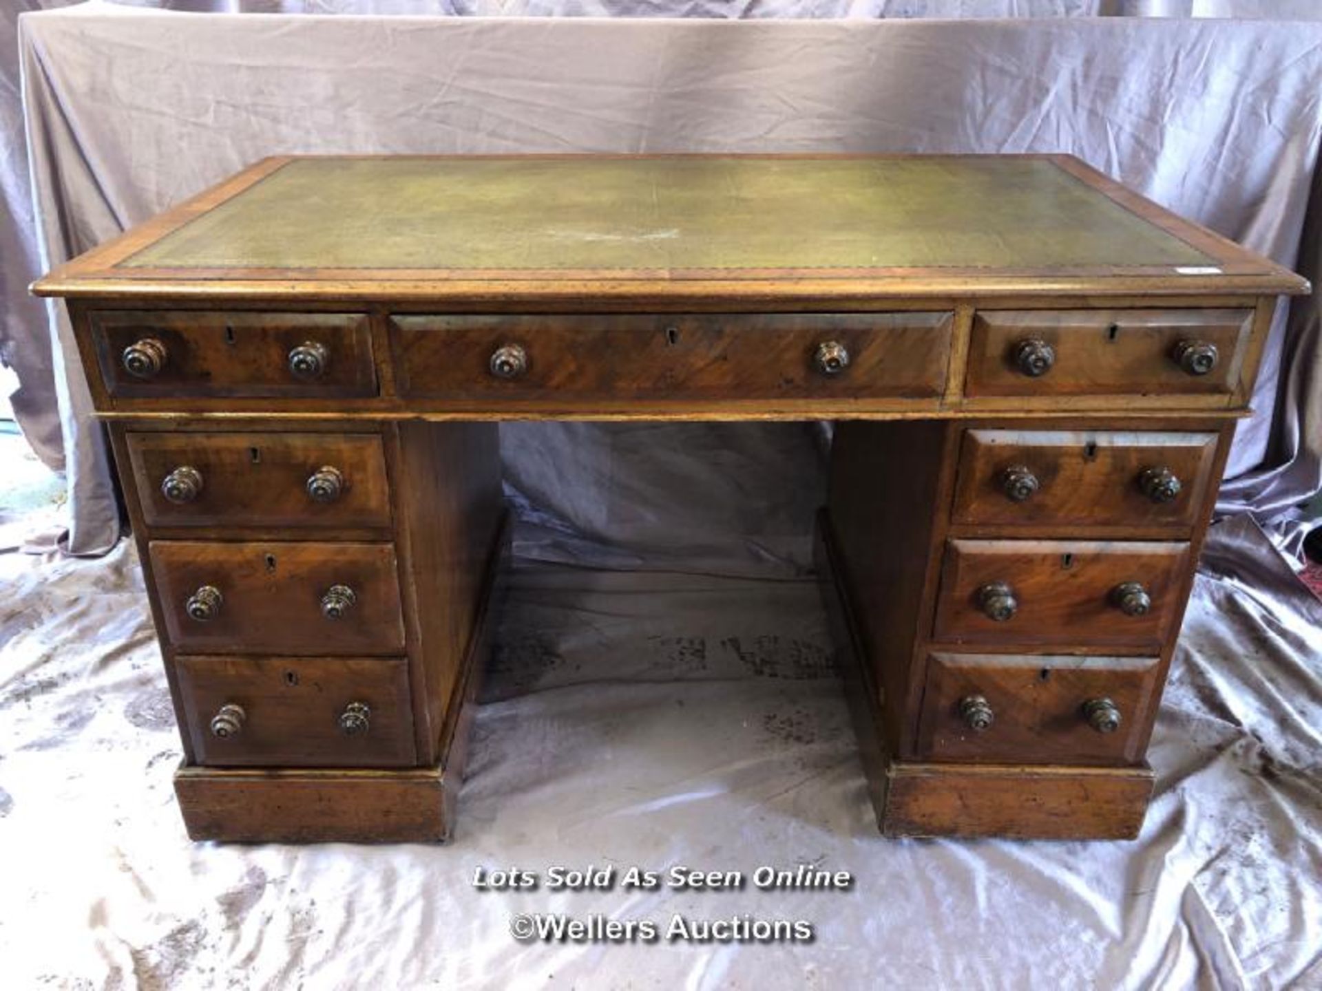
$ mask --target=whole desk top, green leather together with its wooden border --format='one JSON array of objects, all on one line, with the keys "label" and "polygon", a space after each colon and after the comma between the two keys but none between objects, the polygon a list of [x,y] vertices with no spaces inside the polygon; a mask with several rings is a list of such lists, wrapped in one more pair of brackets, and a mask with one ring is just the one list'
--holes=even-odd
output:
[{"label": "whole desk top, green leather together with its wooden border", "polygon": [[48,296],[381,300],[1302,292],[1068,156],[267,159]]}]

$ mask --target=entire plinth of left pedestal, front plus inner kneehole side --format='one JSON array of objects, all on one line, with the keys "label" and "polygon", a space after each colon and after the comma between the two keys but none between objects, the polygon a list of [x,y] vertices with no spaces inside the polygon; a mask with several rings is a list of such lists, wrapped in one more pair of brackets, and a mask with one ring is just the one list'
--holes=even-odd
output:
[{"label": "entire plinth of left pedestal, front plus inner kneehole side", "polygon": [[468,735],[500,613],[509,560],[506,518],[486,567],[481,606],[452,714],[432,768],[297,770],[182,766],[175,773],[192,839],[235,843],[440,843],[449,838]]}]

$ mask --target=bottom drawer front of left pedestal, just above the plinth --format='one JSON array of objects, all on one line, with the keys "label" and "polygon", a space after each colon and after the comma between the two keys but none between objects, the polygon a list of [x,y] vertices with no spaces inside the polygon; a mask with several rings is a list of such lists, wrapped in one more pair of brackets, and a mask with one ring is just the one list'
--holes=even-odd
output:
[{"label": "bottom drawer front of left pedestal, just above the plinth", "polygon": [[200,764],[414,762],[403,658],[180,657],[176,671]]}]

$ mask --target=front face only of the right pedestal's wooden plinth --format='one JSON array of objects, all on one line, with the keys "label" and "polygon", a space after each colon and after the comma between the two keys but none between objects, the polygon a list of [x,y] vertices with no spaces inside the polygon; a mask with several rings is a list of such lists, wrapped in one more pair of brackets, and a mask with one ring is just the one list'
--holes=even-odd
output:
[{"label": "front face only of the right pedestal's wooden plinth", "polygon": [[892,764],[887,836],[1133,839],[1153,773],[1144,768]]}]

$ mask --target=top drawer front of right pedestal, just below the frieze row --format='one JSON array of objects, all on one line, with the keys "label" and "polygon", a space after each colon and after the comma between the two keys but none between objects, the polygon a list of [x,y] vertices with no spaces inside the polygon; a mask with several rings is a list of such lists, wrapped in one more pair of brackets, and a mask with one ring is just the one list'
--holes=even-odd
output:
[{"label": "top drawer front of right pedestal, just below the frieze row", "polygon": [[1211,482],[1215,433],[965,431],[954,523],[1188,531]]}]

